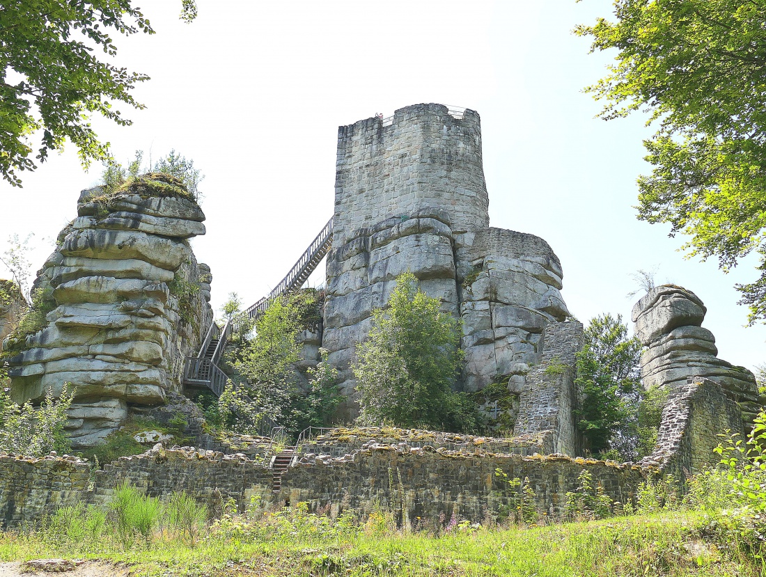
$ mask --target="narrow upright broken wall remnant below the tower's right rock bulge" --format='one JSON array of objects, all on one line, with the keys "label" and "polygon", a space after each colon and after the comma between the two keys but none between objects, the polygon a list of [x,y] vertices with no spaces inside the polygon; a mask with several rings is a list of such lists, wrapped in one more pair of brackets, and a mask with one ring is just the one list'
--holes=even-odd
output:
[{"label": "narrow upright broken wall remnant below the tower's right rock bulge", "polygon": [[540,362],[529,370],[519,389],[519,419],[513,433],[519,436],[552,432],[548,437],[551,445],[542,451],[545,454],[578,455],[581,450],[581,434],[575,424],[578,406],[575,366],[582,344],[581,323],[545,325]]}]

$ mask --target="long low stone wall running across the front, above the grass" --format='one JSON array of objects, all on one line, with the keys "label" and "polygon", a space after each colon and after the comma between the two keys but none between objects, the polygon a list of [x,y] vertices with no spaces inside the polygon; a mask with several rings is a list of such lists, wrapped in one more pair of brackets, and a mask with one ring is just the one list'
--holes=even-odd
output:
[{"label": "long low stone wall running across the front, above the grass", "polygon": [[[470,453],[371,445],[342,458],[300,462],[283,474],[273,491],[273,471],[260,460],[216,451],[162,449],[123,457],[94,474],[74,458],[0,457],[0,525],[38,523],[44,513],[74,500],[106,503],[114,488],[127,481],[139,491],[167,500],[185,491],[220,513],[234,499],[240,510],[253,497],[262,508],[306,501],[311,510],[332,512],[353,507],[362,515],[377,507],[394,511],[404,526],[433,522],[440,515],[481,521],[509,502],[509,488],[496,469],[509,478],[529,479],[538,509],[561,513],[566,493],[575,491],[578,474],[591,472],[613,501],[633,500],[637,485],[650,469],[582,458],[497,455],[474,448]],[[423,523],[423,524],[424,524]]]}]

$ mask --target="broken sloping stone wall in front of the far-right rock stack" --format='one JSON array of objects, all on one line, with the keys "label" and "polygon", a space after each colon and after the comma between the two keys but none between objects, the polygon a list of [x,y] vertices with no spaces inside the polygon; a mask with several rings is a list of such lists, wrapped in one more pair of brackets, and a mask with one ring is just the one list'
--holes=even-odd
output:
[{"label": "broken sloping stone wall in front of the far-right rock stack", "polygon": [[676,479],[719,462],[713,452],[726,431],[745,438],[741,409],[715,381],[690,378],[670,393],[657,435],[656,449],[643,465],[659,467]]}]

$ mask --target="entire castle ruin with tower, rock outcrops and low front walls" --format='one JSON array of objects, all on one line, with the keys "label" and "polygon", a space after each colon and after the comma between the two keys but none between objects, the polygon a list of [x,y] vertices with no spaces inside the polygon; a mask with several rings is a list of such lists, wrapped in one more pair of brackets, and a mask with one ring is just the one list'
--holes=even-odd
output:
[{"label": "entire castle ruin with tower, rock outcrops and low front walls", "polygon": [[[188,386],[220,392],[225,375],[215,365],[231,330],[214,324],[210,269],[187,242],[205,233],[205,215],[178,182],[149,174],[117,194],[102,192],[83,191],[77,219],[38,274],[42,326],[4,343],[15,352],[18,402],[40,399],[48,386],[59,392],[64,381],[77,386],[68,425],[75,447],[101,442],[131,410],[178,399]],[[355,345],[409,270],[462,321],[466,363],[455,388],[481,394],[502,385],[512,424],[506,438],[336,429],[299,442],[283,460],[290,467],[277,471],[283,454],[270,455],[273,439],[256,438],[234,453],[202,432],[204,419],[192,408],[196,449],[157,445],[95,471],[95,481],[74,457],[0,455],[0,524],[25,523],[73,497],[103,502],[123,481],[163,498],[189,491],[211,505],[231,498],[242,508],[258,495],[264,507],[303,500],[316,511],[349,500],[364,512],[398,499],[404,526],[442,514],[481,520],[507,502],[496,469],[529,478],[538,504],[560,513],[583,469],[612,500],[627,503],[647,477],[683,478],[712,464],[717,434],[745,432],[763,401],[754,377],[717,358],[714,337],[700,326],[702,301],[666,285],[633,309],[646,347],[644,385],[669,390],[656,450],[638,464],[575,457],[582,451],[575,363],[583,327],[568,320],[561,263],[538,236],[489,227],[488,204],[477,112],[418,104],[341,126],[334,216],[247,314],[300,288],[327,254],[323,323],[302,335],[301,366],[316,365],[320,345],[329,350],[345,396],[339,416],[349,419],[358,410]],[[489,410],[493,399],[486,400]],[[393,470],[401,475],[398,495],[379,482]]]}]

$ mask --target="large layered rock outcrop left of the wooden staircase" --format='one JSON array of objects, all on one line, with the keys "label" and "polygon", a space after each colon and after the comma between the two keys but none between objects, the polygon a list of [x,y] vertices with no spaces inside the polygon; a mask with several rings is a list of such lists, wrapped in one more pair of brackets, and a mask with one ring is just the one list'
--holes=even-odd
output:
[{"label": "large layered rock outcrop left of the wooden staircase", "polygon": [[180,181],[148,174],[116,194],[89,189],[77,214],[34,282],[44,326],[8,339],[19,350],[9,374],[18,403],[77,387],[69,429],[84,446],[119,427],[131,404],[181,390],[184,357],[213,315],[210,269],[188,243],[205,234],[205,214]]}]

